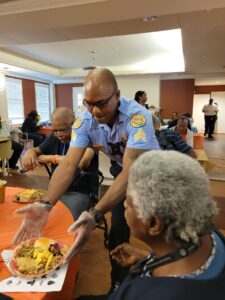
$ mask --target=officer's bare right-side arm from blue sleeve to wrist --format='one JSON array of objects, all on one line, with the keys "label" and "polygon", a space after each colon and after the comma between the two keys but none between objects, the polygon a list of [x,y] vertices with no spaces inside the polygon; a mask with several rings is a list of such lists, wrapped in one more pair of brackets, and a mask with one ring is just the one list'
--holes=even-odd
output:
[{"label": "officer's bare right-side arm from blue sleeve to wrist", "polygon": [[144,152],[144,150],[126,148],[123,156],[123,170],[96,205],[96,208],[98,210],[105,213],[125,198],[130,166],[135,161],[135,159]]}]

